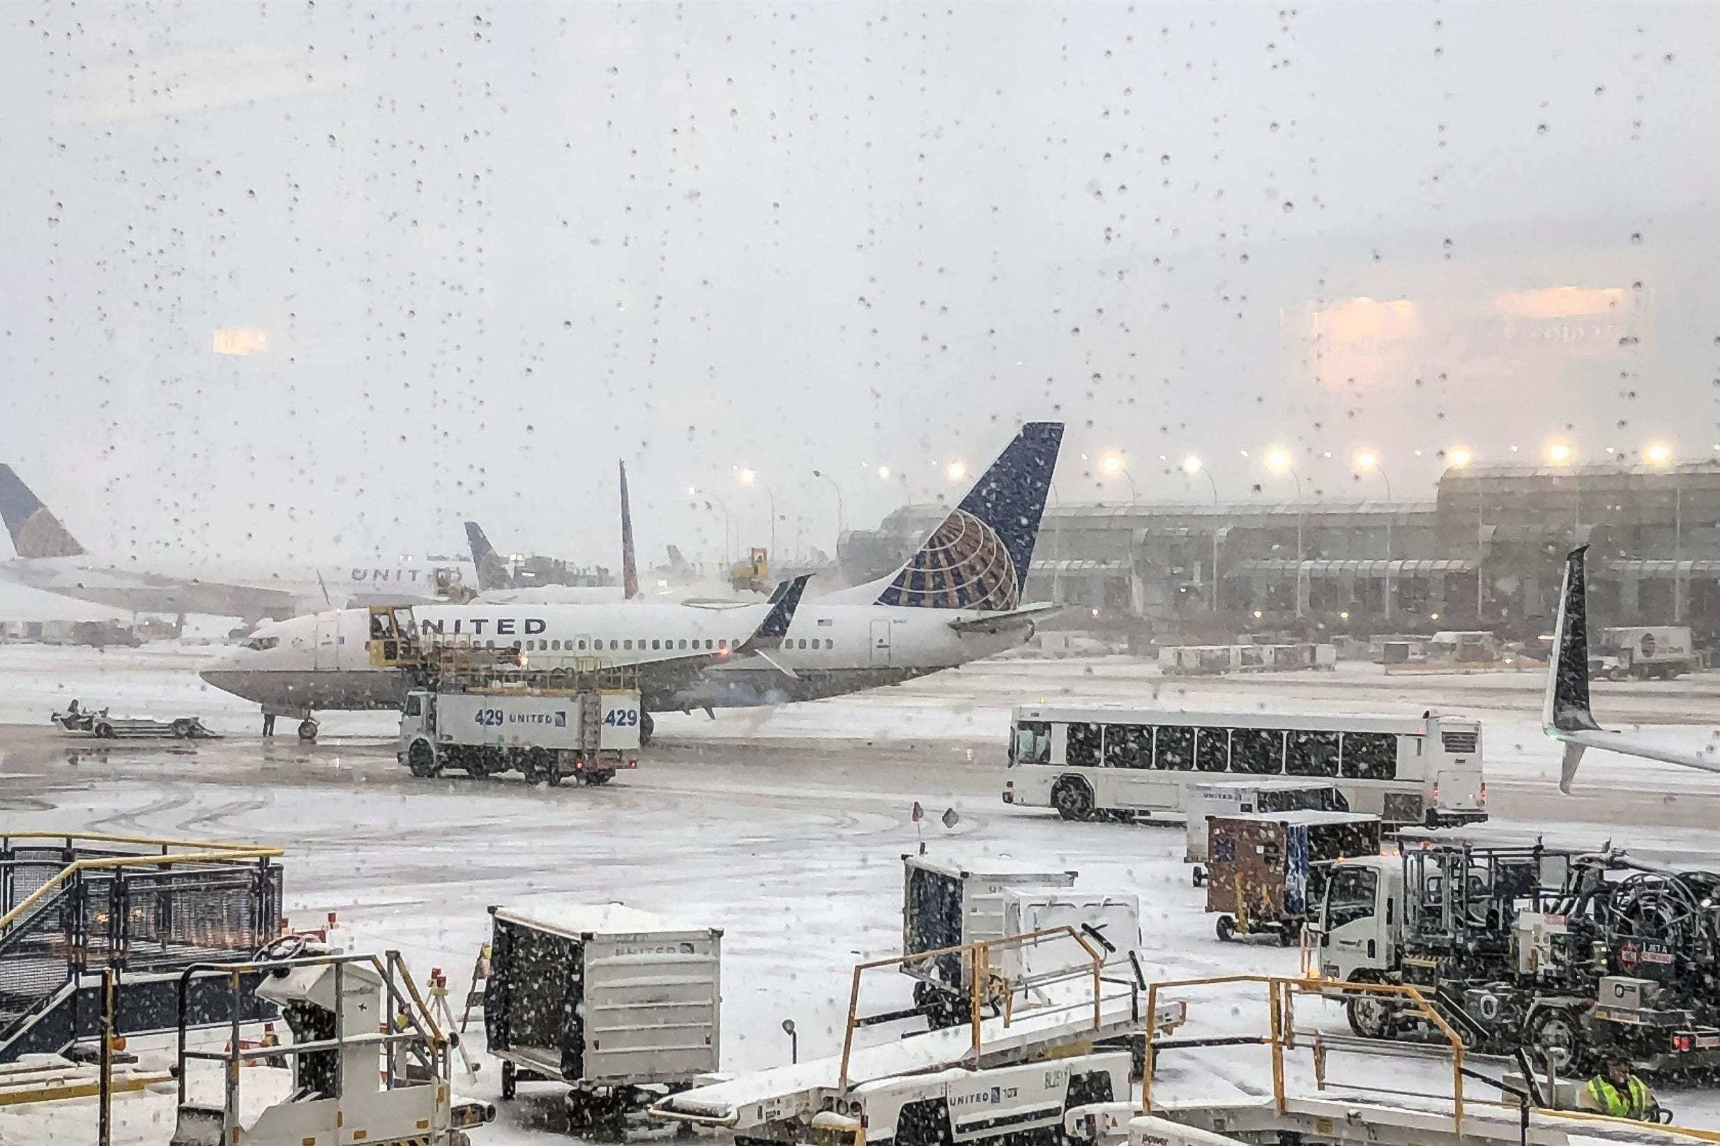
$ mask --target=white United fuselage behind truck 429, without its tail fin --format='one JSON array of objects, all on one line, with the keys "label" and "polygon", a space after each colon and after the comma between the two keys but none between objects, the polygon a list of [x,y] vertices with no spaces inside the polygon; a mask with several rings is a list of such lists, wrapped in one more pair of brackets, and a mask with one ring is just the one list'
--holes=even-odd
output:
[{"label": "white United fuselage behind truck 429, without its tail fin", "polygon": [[[430,640],[518,647],[531,668],[573,666],[580,657],[638,664],[650,711],[741,707],[814,700],[977,661],[1032,635],[1030,625],[1003,633],[958,633],[951,621],[982,616],[955,609],[820,604],[796,611],[783,645],[698,671],[660,673],[652,662],[721,656],[759,628],[769,604],[688,606],[483,604],[415,606]],[[366,650],[368,613],[341,609],[263,625],[251,638],[203,669],[203,680],[280,714],[396,707],[404,678],[375,668]],[[666,666],[667,668],[667,666]]]}]

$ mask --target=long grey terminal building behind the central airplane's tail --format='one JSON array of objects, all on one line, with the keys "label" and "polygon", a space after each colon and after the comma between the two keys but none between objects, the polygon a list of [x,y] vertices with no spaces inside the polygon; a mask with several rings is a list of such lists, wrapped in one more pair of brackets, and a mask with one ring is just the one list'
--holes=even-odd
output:
[{"label": "long grey terminal building behind the central airplane's tail", "polygon": [[[905,506],[843,539],[850,582],[894,568],[946,513]],[[1447,470],[1433,501],[1135,502],[1046,509],[1029,599],[1154,635],[1490,628],[1533,638],[1563,558],[1589,551],[1596,625],[1720,642],[1720,465]]]}]

